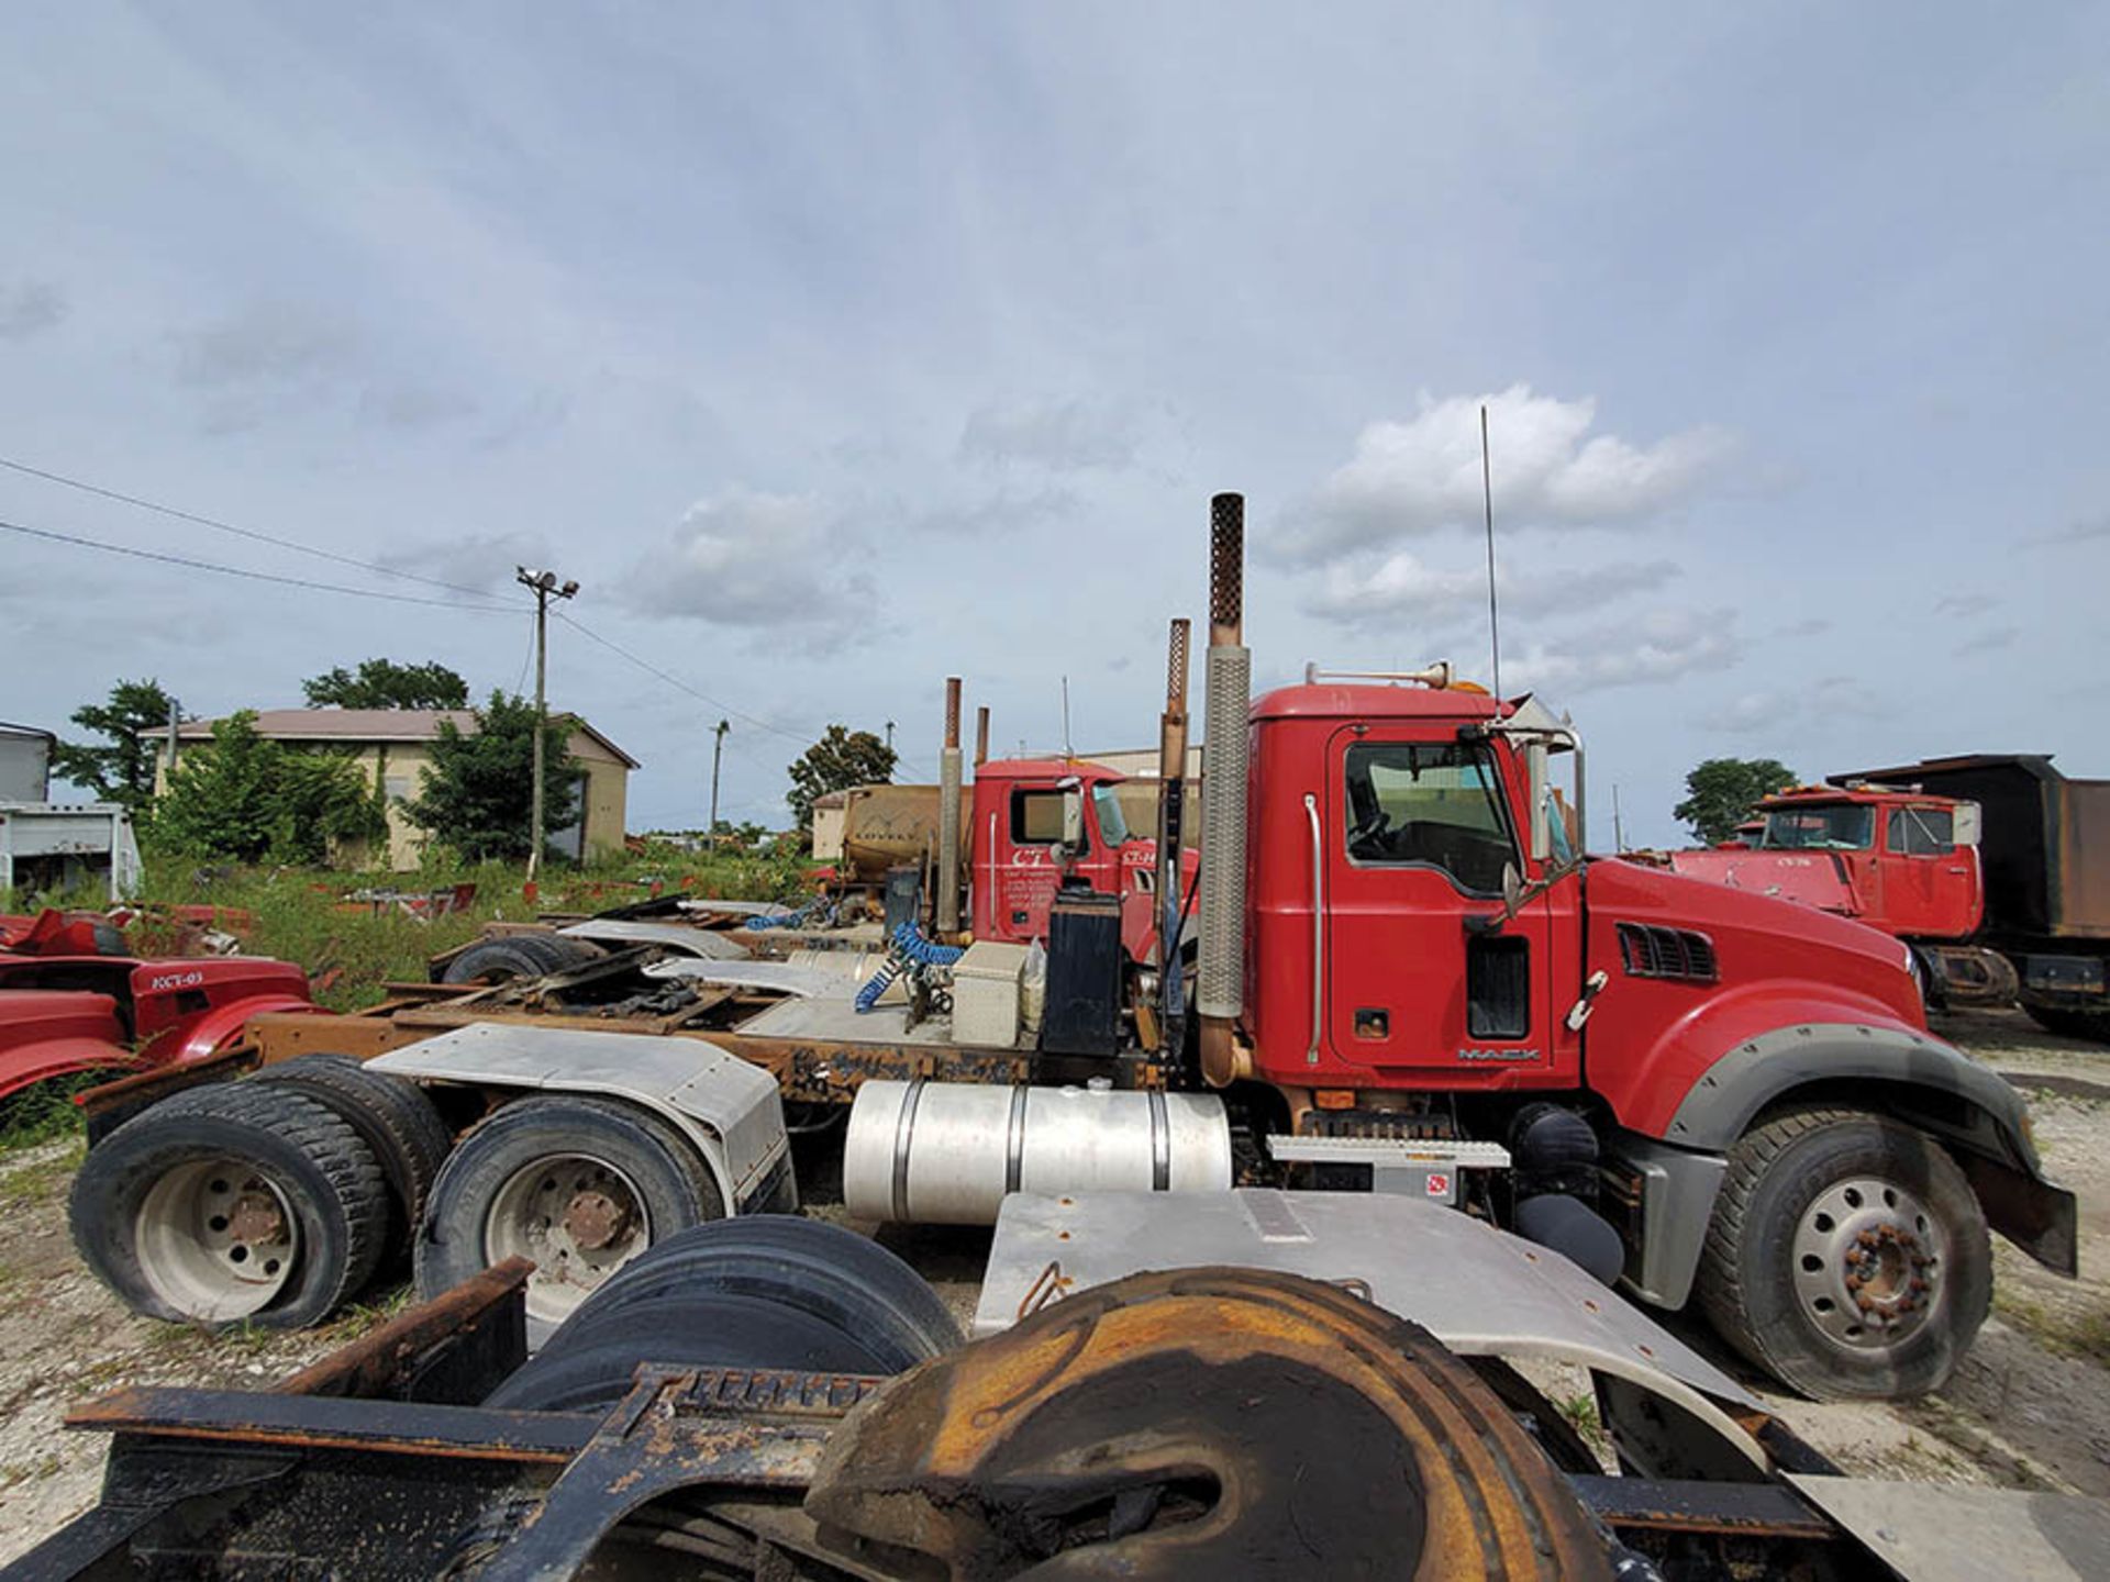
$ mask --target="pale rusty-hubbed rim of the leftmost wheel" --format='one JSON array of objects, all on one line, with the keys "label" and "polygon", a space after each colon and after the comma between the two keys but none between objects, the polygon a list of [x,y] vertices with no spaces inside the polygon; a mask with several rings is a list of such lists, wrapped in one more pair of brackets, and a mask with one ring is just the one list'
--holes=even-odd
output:
[{"label": "pale rusty-hubbed rim of the leftmost wheel", "polygon": [[285,1291],[300,1261],[300,1219],[255,1164],[203,1158],[154,1181],[133,1245],[156,1297],[217,1325],[262,1312]]}]

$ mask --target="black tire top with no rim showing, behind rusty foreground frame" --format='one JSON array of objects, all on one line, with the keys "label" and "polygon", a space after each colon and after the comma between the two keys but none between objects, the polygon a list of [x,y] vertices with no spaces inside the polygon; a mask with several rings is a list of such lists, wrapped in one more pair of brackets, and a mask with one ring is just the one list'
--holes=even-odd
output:
[{"label": "black tire top with no rim showing, behind rusty foreground frame", "polygon": [[487,1405],[606,1409],[639,1363],[901,1373],[956,1346],[939,1295],[878,1242],[791,1215],[720,1219],[608,1280]]}]

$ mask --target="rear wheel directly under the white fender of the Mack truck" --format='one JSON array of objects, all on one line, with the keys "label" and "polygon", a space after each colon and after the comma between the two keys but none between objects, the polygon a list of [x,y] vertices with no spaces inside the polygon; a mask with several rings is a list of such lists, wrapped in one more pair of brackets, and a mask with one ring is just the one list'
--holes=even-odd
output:
[{"label": "rear wheel directly under the white fender of the Mack truck", "polygon": [[703,1156],[658,1116],[580,1095],[515,1099],[462,1135],[433,1183],[418,1299],[521,1253],[536,1261],[528,1342],[538,1346],[631,1257],[724,1213]]}]

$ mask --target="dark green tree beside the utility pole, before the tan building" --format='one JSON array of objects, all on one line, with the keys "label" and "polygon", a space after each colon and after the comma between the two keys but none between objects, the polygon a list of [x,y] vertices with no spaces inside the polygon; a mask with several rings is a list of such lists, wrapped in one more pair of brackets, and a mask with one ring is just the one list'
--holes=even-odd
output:
[{"label": "dark green tree beside the utility pole, before the tan building", "polygon": [[[523,858],[534,840],[534,705],[492,692],[477,709],[477,728],[439,721],[424,791],[403,804],[411,821],[473,863]],[[576,759],[565,749],[570,721],[553,719],[542,734],[542,827],[563,829],[578,816]]]}]

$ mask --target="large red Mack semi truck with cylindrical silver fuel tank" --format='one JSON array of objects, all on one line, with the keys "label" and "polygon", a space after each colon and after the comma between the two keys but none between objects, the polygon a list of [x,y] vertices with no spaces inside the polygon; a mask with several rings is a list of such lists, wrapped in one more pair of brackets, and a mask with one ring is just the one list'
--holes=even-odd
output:
[{"label": "large red Mack semi truck with cylindrical silver fuel tank", "polygon": [[[1175,622],[1169,808],[1186,755],[1184,639]],[[1154,930],[1144,970],[1123,951],[1125,909],[1080,884],[1114,846],[1093,825],[1089,776],[1025,791],[1049,797],[1044,825],[1011,823],[1015,795],[987,808],[977,795],[971,818],[941,829],[941,873],[981,840],[1002,850],[1059,833],[1044,842],[1038,1034],[1019,1034],[1002,977],[922,945],[914,970],[956,972],[947,991],[983,996],[994,1031],[968,1040],[943,1012],[867,1015],[848,981],[829,989],[819,970],[658,962],[639,987],[616,958],[551,979],[530,993],[540,1010],[498,985],[333,1021],[340,1053],[422,1084],[466,1128],[420,1217],[420,1263],[452,1276],[561,1232],[593,1253],[570,1259],[591,1289],[669,1228],[738,1209],[732,1192],[703,1204],[679,1183],[705,1175],[692,1154],[722,1124],[711,1095],[741,1067],[774,1078],[772,1103],[781,1091],[850,1107],[844,1198],[861,1217],[990,1221],[1017,1190],[1405,1192],[1642,1301],[1696,1301],[1732,1346],[1817,1396],[1945,1380],[1988,1312],[1988,1230],[2074,1272],[2074,1196],[2045,1177],[2017,1093],[1929,1034],[1897,939],[1585,856],[1561,816],[1574,808],[1587,829],[1580,738],[1536,700],[1488,696],[1447,667],[1315,667],[1255,700],[1249,669],[1243,500],[1217,496],[1198,882],[1171,856],[1179,840],[1154,846],[1148,886],[1146,869],[1131,882],[1123,867],[1160,918],[1182,918],[1198,890],[1192,970],[1163,945],[1182,939],[1173,926]],[[947,738],[958,785],[956,730]],[[994,795],[1002,780],[983,768]],[[945,894],[939,928],[954,932]],[[992,922],[981,905],[964,920],[977,947]],[[994,924],[1034,928],[1025,911],[1015,924],[1000,905]],[[591,1069],[565,1055],[559,1040],[641,1042],[587,1031],[618,1025],[597,1017],[658,1034],[654,1084],[620,1086],[606,1053]],[[319,1031],[253,1025],[264,1061],[329,1048]],[[774,1124],[741,1103],[743,1126]],[[627,1116],[633,1141],[618,1145],[610,1116]],[[774,1147],[757,1143],[755,1171],[764,1158]],[[84,1249],[97,1232],[76,1217]],[[272,1308],[253,1314],[268,1323]]]}]

